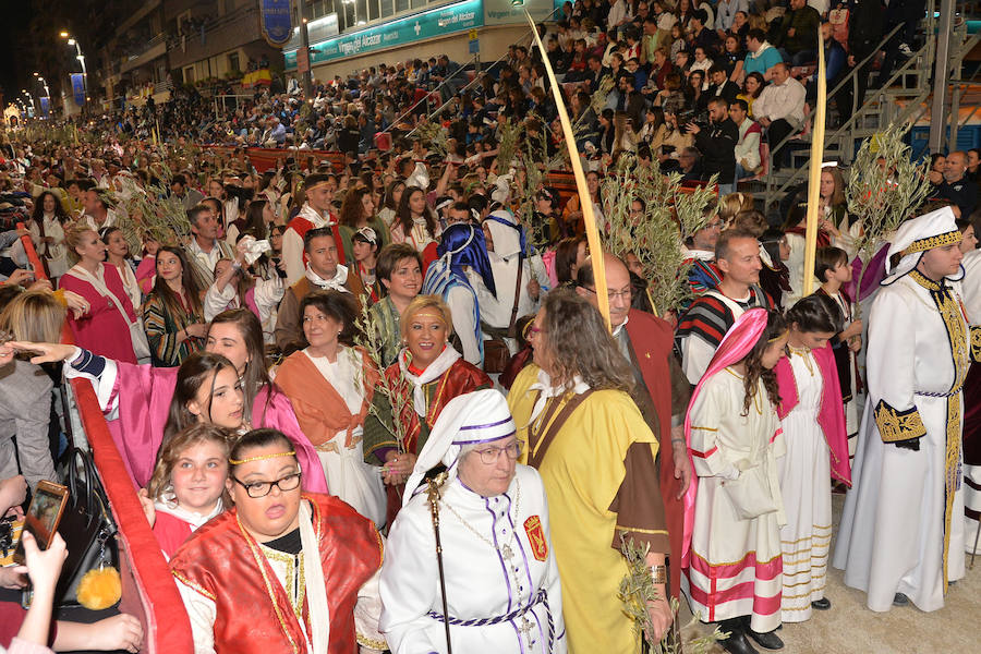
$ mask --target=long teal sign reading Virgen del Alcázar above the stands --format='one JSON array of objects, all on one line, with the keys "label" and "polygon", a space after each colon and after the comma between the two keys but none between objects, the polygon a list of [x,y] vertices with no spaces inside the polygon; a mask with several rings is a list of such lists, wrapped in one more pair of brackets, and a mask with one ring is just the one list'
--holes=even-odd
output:
[{"label": "long teal sign reading Virgen del Alc\u00e1zar above the stands", "polygon": [[[405,16],[377,27],[367,27],[318,44],[311,44],[310,63],[313,65],[344,57],[355,57],[436,36],[465,32],[473,27],[483,27],[483,25],[482,0],[464,0]],[[296,68],[296,50],[283,52],[283,57],[287,70]]]}]

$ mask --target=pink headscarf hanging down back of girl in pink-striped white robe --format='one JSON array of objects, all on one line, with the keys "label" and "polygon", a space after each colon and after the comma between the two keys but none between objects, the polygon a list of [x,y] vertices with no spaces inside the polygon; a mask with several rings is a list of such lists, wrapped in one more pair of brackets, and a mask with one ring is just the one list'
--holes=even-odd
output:
[{"label": "pink headscarf hanging down back of girl in pink-striped white robe", "polygon": [[[691,408],[694,405],[695,399],[702,392],[705,382],[711,379],[717,373],[726,370],[734,363],[742,361],[756,341],[763,330],[766,329],[767,312],[765,308],[751,308],[739,316],[726,336],[723,338],[715,355],[708,364],[708,370],[699,379],[698,386],[691,393],[691,401],[688,403],[688,411],[685,414],[685,440],[688,445],[688,462],[691,470],[694,471],[694,460],[691,458]],[[699,477],[691,475],[691,484],[685,497],[681,498],[685,508],[685,524],[681,534],[681,568],[687,569],[691,562],[691,534],[694,531],[694,502],[698,496]]]}]

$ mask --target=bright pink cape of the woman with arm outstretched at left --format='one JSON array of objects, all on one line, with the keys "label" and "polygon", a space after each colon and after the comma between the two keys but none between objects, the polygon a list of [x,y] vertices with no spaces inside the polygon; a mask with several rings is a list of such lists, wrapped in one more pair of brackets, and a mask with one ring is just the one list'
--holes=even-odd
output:
[{"label": "bright pink cape of the woman with arm outstretched at left", "polygon": [[[109,422],[109,431],[130,476],[142,488],[154,473],[179,368],[122,362],[116,362],[116,365],[118,372],[110,397],[119,396],[119,420]],[[252,425],[286,434],[296,449],[296,460],[303,471],[303,489],[326,494],[324,467],[300,429],[290,401],[275,386],[267,408],[268,397],[268,388],[256,395],[252,402]]]}]

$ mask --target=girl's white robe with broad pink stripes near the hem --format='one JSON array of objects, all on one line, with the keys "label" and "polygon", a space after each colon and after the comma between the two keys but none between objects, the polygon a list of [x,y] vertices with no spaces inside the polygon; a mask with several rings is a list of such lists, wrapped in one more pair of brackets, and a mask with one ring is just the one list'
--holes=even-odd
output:
[{"label": "girl's white robe with broad pink stripes near the hem", "polygon": [[743,416],[744,397],[742,376],[726,368],[705,383],[689,411],[699,492],[681,589],[702,620],[751,616],[762,633],[780,625],[786,518],[776,458],[785,445],[763,383]]}]

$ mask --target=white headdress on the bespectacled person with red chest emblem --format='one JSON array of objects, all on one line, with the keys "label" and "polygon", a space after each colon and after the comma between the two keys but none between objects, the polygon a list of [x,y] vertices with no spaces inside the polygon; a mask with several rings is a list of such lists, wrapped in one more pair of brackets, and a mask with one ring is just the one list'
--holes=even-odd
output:
[{"label": "white headdress on the bespectacled person with red chest emblem", "polygon": [[464,445],[507,438],[516,432],[508,402],[499,390],[475,390],[457,396],[443,408],[415,468],[405,482],[402,506],[415,495],[426,473],[438,463],[446,465],[448,481],[457,476],[457,462]]}]

